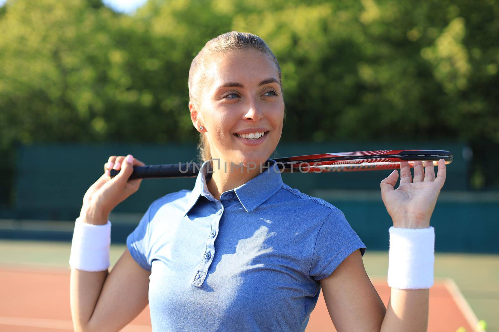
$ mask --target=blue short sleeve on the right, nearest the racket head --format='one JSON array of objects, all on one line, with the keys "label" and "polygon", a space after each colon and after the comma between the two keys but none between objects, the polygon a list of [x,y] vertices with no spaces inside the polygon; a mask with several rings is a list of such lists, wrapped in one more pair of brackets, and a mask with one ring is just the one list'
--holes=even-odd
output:
[{"label": "blue short sleeve on the right, nearest the racket head", "polygon": [[343,212],[333,210],[317,234],[309,276],[316,281],[330,276],[357,249],[360,249],[363,256],[366,246],[345,219]]}]

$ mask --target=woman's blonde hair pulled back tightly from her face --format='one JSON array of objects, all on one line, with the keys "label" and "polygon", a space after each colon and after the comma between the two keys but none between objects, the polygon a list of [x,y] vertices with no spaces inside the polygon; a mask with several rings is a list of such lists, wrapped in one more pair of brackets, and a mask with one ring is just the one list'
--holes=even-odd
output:
[{"label": "woman's blonde hair pulled back tightly from her face", "polygon": [[[189,70],[189,99],[198,111],[201,107],[201,94],[207,82],[206,68],[213,56],[229,51],[244,50],[260,51],[272,61],[277,69],[279,84],[281,85],[282,91],[282,74],[279,63],[277,62],[274,53],[268,48],[263,39],[251,33],[231,31],[208,41],[201,51],[199,51],[198,55],[192,60],[191,69]],[[198,150],[199,159],[202,162],[212,159],[210,143],[206,133],[200,133]]]}]

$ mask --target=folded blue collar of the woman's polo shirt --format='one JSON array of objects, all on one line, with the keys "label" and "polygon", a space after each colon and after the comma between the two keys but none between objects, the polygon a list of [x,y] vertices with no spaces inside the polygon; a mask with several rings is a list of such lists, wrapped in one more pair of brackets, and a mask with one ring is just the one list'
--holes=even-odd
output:
[{"label": "folded blue collar of the woman's polo shirt", "polygon": [[[282,187],[282,177],[276,167],[275,160],[267,159],[269,167],[262,167],[260,174],[252,178],[247,183],[234,188],[239,202],[247,212],[256,209],[260,204],[268,200]],[[265,164],[265,163],[264,163]],[[210,173],[209,173],[210,172]],[[204,196],[210,201],[216,201],[208,190],[208,181],[211,178],[211,167],[209,161],[205,161],[200,168],[196,184],[187,202],[184,216],[194,207],[200,196]]]}]

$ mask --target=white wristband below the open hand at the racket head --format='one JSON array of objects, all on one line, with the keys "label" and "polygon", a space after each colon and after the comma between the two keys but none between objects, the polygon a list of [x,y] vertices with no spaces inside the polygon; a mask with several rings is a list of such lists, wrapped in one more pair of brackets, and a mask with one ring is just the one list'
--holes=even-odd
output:
[{"label": "white wristband below the open hand at the racket head", "polygon": [[388,285],[399,289],[433,286],[435,228],[390,227]]}]

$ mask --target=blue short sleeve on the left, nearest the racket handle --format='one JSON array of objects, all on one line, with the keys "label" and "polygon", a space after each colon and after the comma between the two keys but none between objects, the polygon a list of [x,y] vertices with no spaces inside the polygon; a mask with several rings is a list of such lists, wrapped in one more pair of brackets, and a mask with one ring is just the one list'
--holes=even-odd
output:
[{"label": "blue short sleeve on the left, nearest the racket handle", "polygon": [[149,261],[150,256],[150,221],[151,221],[151,207],[152,204],[147,209],[139,224],[132,231],[126,239],[126,245],[128,251],[132,255],[133,259],[142,266],[147,271],[151,271],[151,263]]}]

